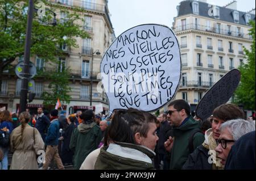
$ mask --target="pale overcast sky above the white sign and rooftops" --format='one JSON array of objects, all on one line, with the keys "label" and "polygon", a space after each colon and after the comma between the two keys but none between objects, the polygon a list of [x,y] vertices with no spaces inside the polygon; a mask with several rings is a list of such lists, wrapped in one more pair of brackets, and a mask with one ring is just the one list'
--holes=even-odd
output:
[{"label": "pale overcast sky above the white sign and rooftops", "polygon": [[[157,23],[172,26],[181,0],[109,0],[110,19],[115,36],[139,24]],[[232,0],[208,0],[207,3],[225,6]],[[237,0],[238,11],[255,8],[255,0]]]}]

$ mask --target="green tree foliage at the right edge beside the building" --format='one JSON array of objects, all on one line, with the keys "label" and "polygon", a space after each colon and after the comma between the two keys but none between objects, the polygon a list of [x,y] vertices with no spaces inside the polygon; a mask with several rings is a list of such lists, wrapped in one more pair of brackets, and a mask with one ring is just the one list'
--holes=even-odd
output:
[{"label": "green tree foliage at the right edge beside the building", "polygon": [[242,104],[245,109],[255,110],[255,21],[250,22],[252,37],[251,49],[244,48],[247,63],[240,66],[241,82],[235,96],[236,103]]}]

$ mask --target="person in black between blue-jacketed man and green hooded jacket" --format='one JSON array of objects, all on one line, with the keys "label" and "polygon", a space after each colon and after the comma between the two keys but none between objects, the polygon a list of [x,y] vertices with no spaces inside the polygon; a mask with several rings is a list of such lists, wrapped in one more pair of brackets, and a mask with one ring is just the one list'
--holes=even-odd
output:
[{"label": "person in black between blue-jacketed man and green hooded jacket", "polygon": [[75,116],[68,117],[67,119],[68,127],[65,129],[65,132],[63,133],[63,137],[60,137],[60,140],[63,140],[63,146],[61,149],[60,158],[64,165],[73,165],[74,152],[71,149],[69,149],[69,143],[70,143],[72,132],[76,127],[75,120],[76,120]]}]

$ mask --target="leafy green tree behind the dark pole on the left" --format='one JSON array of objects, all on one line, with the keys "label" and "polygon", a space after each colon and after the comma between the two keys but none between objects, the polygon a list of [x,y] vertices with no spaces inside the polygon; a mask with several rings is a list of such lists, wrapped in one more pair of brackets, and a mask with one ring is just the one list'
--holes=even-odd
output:
[{"label": "leafy green tree behind the dark pole on the left", "polygon": [[[13,62],[17,57],[21,57],[24,54],[24,44],[27,26],[27,9],[28,1],[18,0],[0,0],[0,78],[2,78],[3,71],[7,69],[13,69]],[[53,12],[56,12],[55,7],[51,4],[47,4],[48,8]],[[35,3],[36,7],[36,3]],[[40,9],[40,7],[37,7]],[[79,24],[75,23],[77,20],[83,20],[79,18],[78,12],[68,13],[63,7],[57,5],[57,12],[65,13],[64,19],[57,19],[57,25],[53,26],[53,13],[46,11],[45,15],[39,16],[38,13],[34,13],[34,19],[32,23],[32,40],[31,40],[31,57],[38,56],[48,62],[53,63],[53,66],[58,64],[57,57],[64,55],[64,51],[60,49],[61,45],[67,47],[77,48],[75,37],[89,37]],[[63,38],[65,37],[65,39]],[[56,70],[56,69],[55,69]],[[42,75],[42,74],[41,74]],[[47,74],[48,80],[51,81],[49,86],[51,92],[46,92],[43,95],[45,103],[56,102],[56,95],[60,100],[69,102],[70,96],[68,96],[68,71],[52,71],[51,74]],[[61,78],[60,78],[61,77]],[[57,81],[59,85],[55,85]],[[59,79],[58,79],[59,78]],[[65,90],[65,91],[60,91]],[[0,79],[0,91],[1,91],[1,79]],[[61,92],[61,93],[60,93]],[[52,100],[55,99],[55,100]]]}]

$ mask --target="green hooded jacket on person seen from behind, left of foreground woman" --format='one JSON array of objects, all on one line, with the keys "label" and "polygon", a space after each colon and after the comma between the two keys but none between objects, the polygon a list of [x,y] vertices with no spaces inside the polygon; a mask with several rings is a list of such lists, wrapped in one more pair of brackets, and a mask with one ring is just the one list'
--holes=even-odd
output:
[{"label": "green hooded jacket on person seen from behind, left of foreground woman", "polygon": [[79,170],[87,155],[97,149],[101,141],[101,129],[96,123],[81,123],[74,129],[69,148],[74,151],[74,169]]}]

